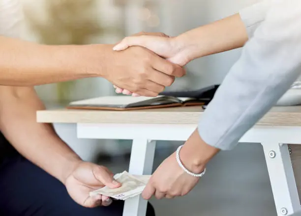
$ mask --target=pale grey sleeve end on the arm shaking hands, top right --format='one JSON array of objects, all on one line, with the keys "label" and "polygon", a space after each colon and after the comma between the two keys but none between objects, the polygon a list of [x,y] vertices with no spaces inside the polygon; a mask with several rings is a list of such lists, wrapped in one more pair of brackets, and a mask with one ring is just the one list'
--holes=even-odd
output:
[{"label": "pale grey sleeve end on the arm shaking hands, top right", "polygon": [[257,27],[265,20],[272,0],[263,0],[240,10],[241,20],[244,23],[249,38],[254,34]]}]

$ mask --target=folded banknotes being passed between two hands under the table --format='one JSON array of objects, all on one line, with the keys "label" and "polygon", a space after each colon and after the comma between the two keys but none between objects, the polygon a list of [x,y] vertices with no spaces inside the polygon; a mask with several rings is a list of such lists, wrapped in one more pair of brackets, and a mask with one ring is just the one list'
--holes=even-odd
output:
[{"label": "folded banknotes being passed between two hands under the table", "polygon": [[114,178],[122,184],[120,188],[110,189],[108,187],[103,187],[101,189],[90,192],[90,196],[102,194],[114,199],[125,200],[127,198],[141,194],[150,177],[151,176],[146,175],[134,176],[124,171],[114,176]]}]

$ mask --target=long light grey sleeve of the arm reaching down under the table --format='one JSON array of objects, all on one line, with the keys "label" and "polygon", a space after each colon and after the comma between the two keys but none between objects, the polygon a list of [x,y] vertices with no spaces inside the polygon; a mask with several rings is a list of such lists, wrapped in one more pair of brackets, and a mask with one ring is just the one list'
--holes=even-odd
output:
[{"label": "long light grey sleeve of the arm reaching down under the table", "polygon": [[202,115],[198,131],[222,150],[237,145],[301,72],[301,1],[275,0]]}]

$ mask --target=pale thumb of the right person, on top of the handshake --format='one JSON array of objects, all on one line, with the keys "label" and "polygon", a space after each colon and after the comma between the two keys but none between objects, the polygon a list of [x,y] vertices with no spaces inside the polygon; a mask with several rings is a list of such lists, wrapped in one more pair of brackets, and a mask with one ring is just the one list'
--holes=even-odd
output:
[{"label": "pale thumb of the right person, on top of the handshake", "polygon": [[154,42],[158,42],[158,40],[162,38],[165,37],[150,36],[150,35],[125,37],[119,44],[113,47],[113,50],[122,51],[132,46],[140,46],[152,50]]}]

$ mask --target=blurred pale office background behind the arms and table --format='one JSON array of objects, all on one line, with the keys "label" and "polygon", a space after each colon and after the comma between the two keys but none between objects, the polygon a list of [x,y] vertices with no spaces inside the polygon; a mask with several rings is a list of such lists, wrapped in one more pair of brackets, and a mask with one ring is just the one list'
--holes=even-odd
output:
[{"label": "blurred pale office background behind the arms and table", "polygon": [[[22,0],[24,38],[45,44],[113,44],[140,31],[160,31],[176,36],[237,13],[258,1]],[[238,49],[194,60],[187,65],[187,76],[176,80],[170,88],[191,89],[221,83],[240,52]],[[36,90],[47,108],[115,94],[112,84],[101,78],[36,86]],[[75,125],[56,124],[55,128],[84,160],[106,163],[116,172],[127,169],[130,141],[77,139]],[[159,141],[155,166],[179,144]],[[221,153],[208,170],[208,177],[187,197],[153,200],[158,215],[275,215],[260,145],[240,145],[231,153]],[[189,210],[184,211],[185,207]]]}]

